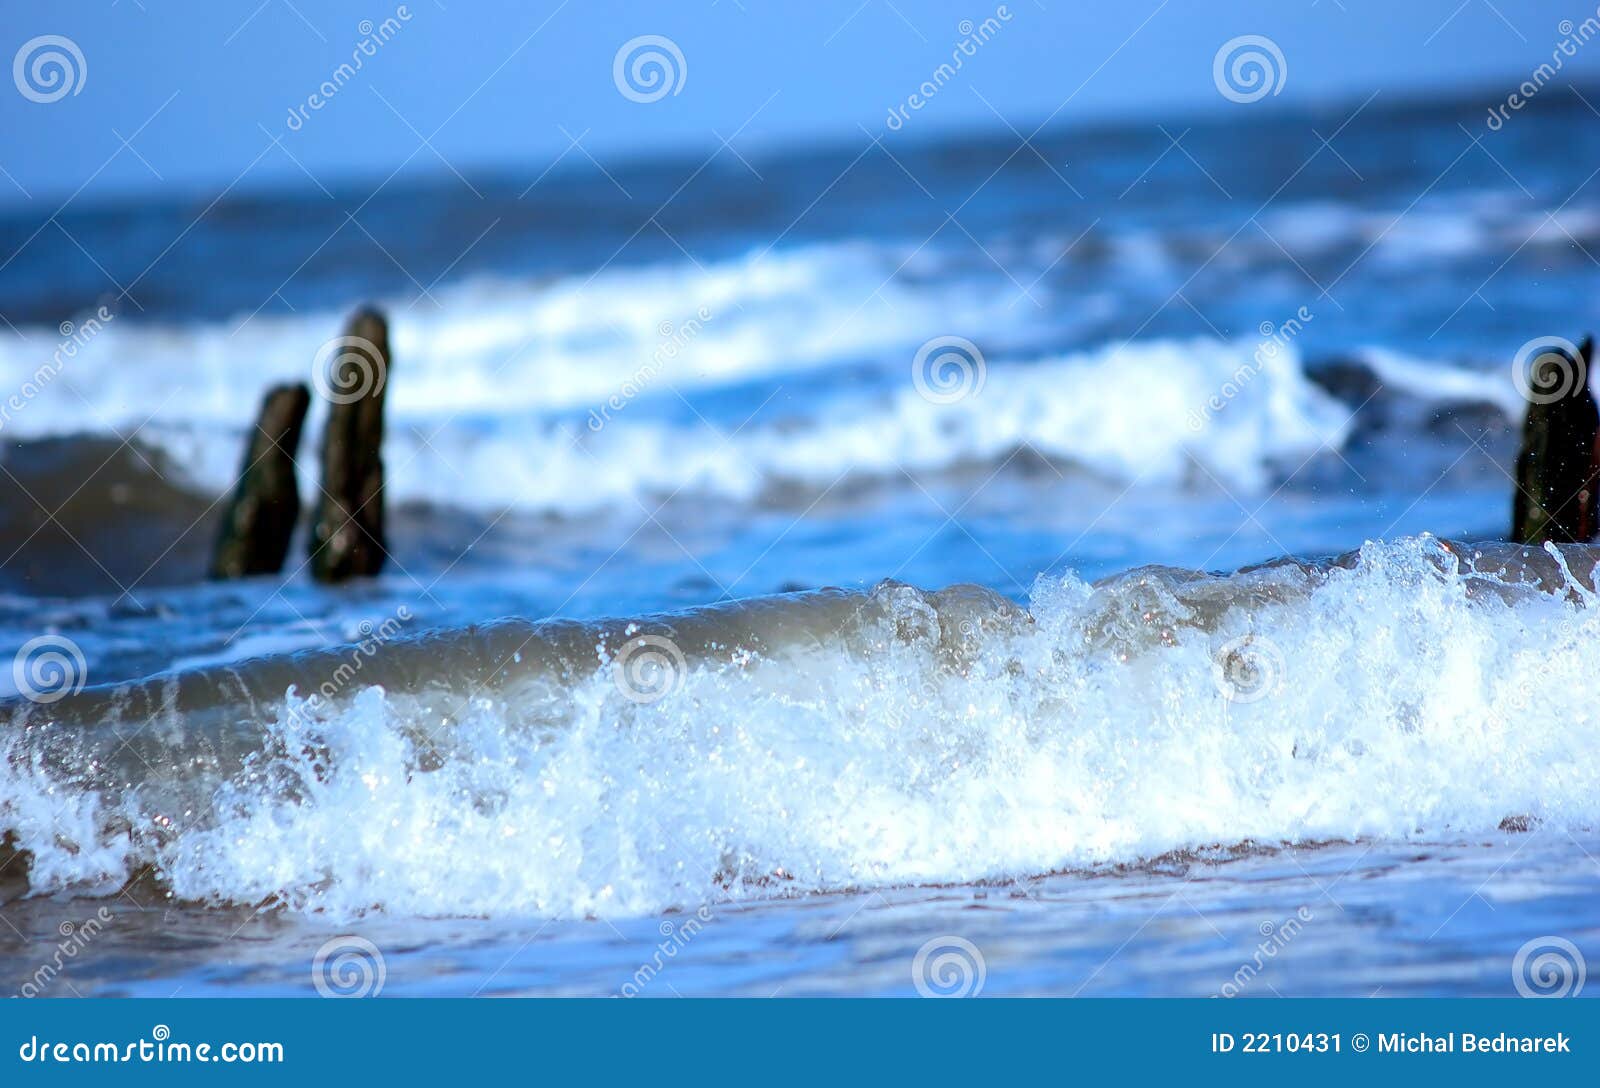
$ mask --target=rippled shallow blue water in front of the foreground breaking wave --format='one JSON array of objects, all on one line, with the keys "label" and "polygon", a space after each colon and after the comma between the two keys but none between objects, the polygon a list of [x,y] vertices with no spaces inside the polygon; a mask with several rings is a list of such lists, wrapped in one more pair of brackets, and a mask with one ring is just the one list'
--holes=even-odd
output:
[{"label": "rippled shallow blue water in front of the foreground breaking wave", "polygon": [[[109,901],[13,906],[0,973],[42,995],[1406,997],[1518,994],[1534,942],[1600,939],[1600,842],[1549,830],[1448,845],[1323,845],[1170,858],[1102,875],[888,888],[694,907],[662,918],[370,918],[349,928],[248,910]],[[64,918],[110,920],[90,941]],[[357,949],[352,938],[376,949]],[[962,946],[960,942],[966,942]],[[358,957],[318,973],[318,950]],[[931,946],[931,947],[930,947]],[[960,958],[942,968],[941,954]],[[381,966],[379,966],[381,958]],[[1523,968],[1523,984],[1538,978]],[[1568,974],[1571,986],[1573,976]],[[1560,989],[1560,976],[1544,992]]]}]

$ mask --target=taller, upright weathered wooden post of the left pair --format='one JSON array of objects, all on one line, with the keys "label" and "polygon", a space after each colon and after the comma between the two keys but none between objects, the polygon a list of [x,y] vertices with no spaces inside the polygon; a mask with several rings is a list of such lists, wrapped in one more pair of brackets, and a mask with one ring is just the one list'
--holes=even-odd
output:
[{"label": "taller, upright weathered wooden post of the left pair", "polygon": [[384,389],[389,322],[362,309],[328,355],[318,392],[328,400],[322,435],[322,496],[310,536],[310,570],[322,582],[376,574],[384,539]]}]

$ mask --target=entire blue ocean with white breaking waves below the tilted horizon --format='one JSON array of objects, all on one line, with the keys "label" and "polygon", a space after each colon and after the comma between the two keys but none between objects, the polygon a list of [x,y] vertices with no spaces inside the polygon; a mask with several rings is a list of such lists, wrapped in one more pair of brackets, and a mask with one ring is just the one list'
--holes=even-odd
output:
[{"label": "entire blue ocean with white breaking waves below the tilted horizon", "polygon": [[[1494,101],[0,218],[0,990],[1581,989],[1600,130]],[[390,563],[206,582],[362,302]]]}]

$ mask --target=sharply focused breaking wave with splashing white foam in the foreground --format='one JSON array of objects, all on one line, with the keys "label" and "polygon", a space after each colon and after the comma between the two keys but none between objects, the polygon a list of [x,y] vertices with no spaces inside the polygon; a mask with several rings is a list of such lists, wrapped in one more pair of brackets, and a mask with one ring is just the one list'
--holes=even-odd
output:
[{"label": "sharply focused breaking wave with splashing white foam in the foreground", "polygon": [[885,582],[13,699],[0,829],[35,894],[152,867],[182,899],[336,917],[1592,829],[1595,558],[1419,538],[1040,579],[1027,611]]}]

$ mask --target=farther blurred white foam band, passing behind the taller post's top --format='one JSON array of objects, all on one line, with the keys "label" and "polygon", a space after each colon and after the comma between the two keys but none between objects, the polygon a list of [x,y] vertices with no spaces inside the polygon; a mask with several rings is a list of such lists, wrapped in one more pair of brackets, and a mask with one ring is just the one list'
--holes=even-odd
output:
[{"label": "farther blurred white foam band, passing behind the taller post's top", "polygon": [[[654,357],[678,390],[794,373],[862,354],[914,349],[949,330],[1016,326],[1010,294],[957,283],[910,288],[898,251],[838,243],[754,253],[710,266],[610,269],[552,282],[470,280],[435,301],[386,304],[397,421],[456,413],[579,410],[602,403]],[[435,304],[437,302],[437,304]],[[6,424],[45,437],[158,424],[243,427],[272,381],[310,381],[318,347],[339,334],[334,312],[242,315],[194,325],[109,325],[69,358],[56,390]],[[690,323],[693,333],[683,333]],[[931,331],[930,331],[931,330]],[[59,336],[24,328],[0,338],[0,389],[19,387]],[[232,458],[230,458],[232,459]]]}]

